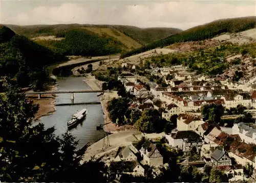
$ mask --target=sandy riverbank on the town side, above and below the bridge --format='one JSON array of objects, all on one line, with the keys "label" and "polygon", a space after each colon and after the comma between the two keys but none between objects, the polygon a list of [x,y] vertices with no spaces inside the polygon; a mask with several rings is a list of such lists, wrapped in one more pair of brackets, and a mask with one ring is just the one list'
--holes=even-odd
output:
[{"label": "sandy riverbank on the town side, above and below the bridge", "polygon": [[[92,90],[101,90],[100,86],[101,86],[102,82],[95,79],[95,77],[92,76],[91,74],[88,74],[83,81],[87,85],[89,85],[89,87]],[[117,91],[104,93],[103,95],[100,96],[100,103],[102,106],[102,111],[104,113],[104,124],[105,125],[103,125],[103,129],[105,132],[108,132],[108,133],[116,133],[121,130],[133,129],[133,126],[131,126],[131,125],[122,125],[122,126],[115,125],[109,118],[109,112],[108,112],[108,110],[106,110],[108,101],[113,98],[118,98],[118,97],[119,96],[117,94]]]}]

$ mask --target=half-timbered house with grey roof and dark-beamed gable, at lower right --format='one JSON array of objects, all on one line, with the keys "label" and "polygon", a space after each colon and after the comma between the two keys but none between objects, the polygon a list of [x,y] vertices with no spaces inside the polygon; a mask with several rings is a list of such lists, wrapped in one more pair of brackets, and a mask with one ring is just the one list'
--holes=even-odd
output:
[{"label": "half-timbered house with grey roof and dark-beamed gable, at lower right", "polygon": [[211,163],[215,166],[230,166],[232,165],[231,159],[228,156],[228,153],[222,149],[216,148],[215,151],[210,155]]}]

